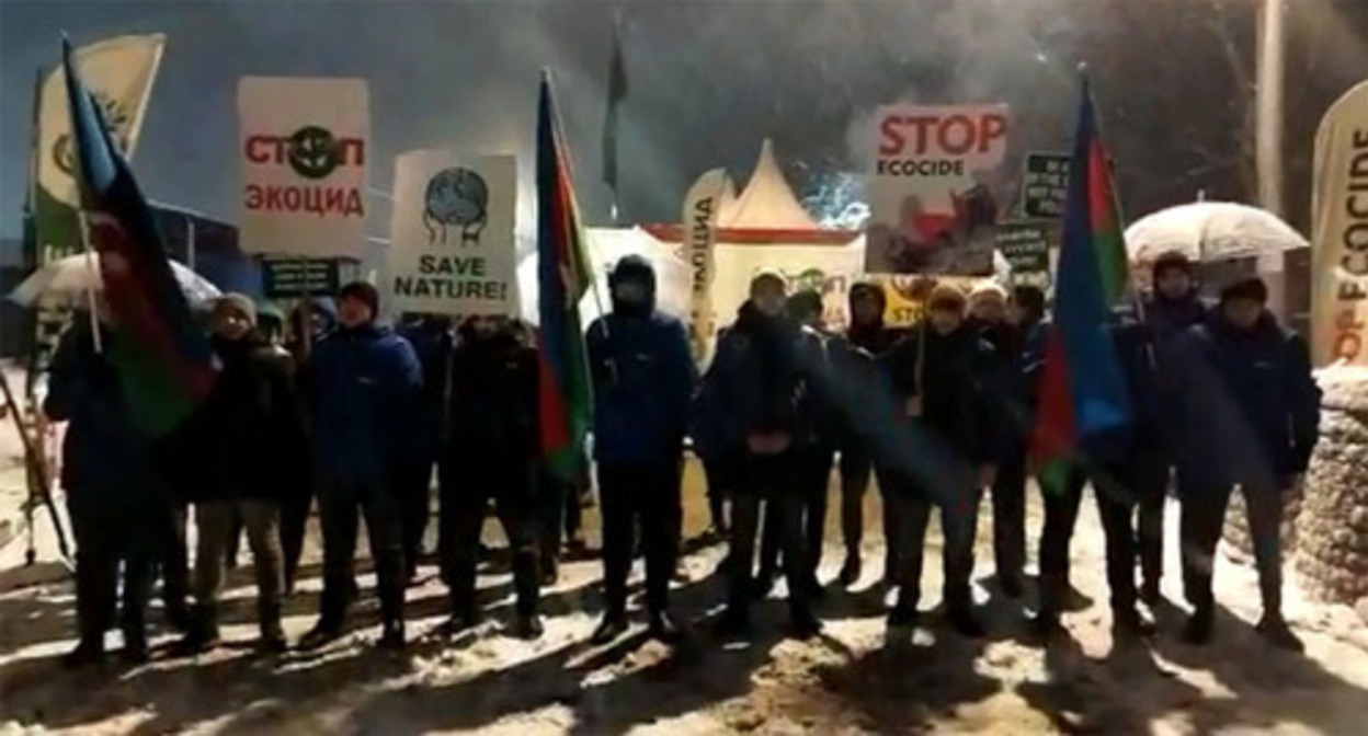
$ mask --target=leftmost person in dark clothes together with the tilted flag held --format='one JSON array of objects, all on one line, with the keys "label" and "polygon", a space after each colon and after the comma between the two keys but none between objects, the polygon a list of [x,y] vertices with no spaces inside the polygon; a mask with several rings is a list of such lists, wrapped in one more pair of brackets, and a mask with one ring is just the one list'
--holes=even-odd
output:
[{"label": "leftmost person in dark clothes together with the tilted flag held", "polygon": [[[100,256],[101,298],[78,315],[53,357],[49,419],[71,423],[63,447],[77,557],[81,643],[66,663],[104,657],[123,565],[124,658],[146,659],[145,609],[156,554],[148,528],[155,442],[174,432],[208,398],[215,383],[208,337],[171,271],[152,209],[63,37],[75,181],[88,246]],[[149,513],[150,512],[150,513]]]}]

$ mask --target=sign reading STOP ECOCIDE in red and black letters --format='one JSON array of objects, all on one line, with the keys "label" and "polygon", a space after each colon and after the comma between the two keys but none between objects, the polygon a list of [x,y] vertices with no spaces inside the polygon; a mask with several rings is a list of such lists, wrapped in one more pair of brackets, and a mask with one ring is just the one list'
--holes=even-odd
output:
[{"label": "sign reading STOP ECOCIDE in red and black letters", "polygon": [[1007,105],[882,107],[869,172],[871,274],[993,272]]}]

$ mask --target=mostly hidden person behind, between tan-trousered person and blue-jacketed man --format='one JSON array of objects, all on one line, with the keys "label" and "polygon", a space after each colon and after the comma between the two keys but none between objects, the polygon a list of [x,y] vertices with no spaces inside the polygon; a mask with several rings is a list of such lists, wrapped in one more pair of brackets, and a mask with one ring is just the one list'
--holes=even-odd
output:
[{"label": "mostly hidden person behind, between tan-trousered person and blue-jacketed man", "polygon": [[[337,305],[331,298],[313,297],[290,312],[290,331],[285,339],[285,350],[294,358],[294,383],[301,397],[309,395],[309,353],[337,328]],[[305,420],[308,421],[308,416]],[[305,425],[308,430],[308,425]],[[304,482],[280,501],[280,549],[285,555],[285,592],[294,592],[294,581],[300,570],[300,557],[304,554],[304,539],[308,535],[309,509],[317,497],[312,475],[312,461],[304,451],[287,462],[301,472]],[[356,580],[347,586],[356,598]]]}]

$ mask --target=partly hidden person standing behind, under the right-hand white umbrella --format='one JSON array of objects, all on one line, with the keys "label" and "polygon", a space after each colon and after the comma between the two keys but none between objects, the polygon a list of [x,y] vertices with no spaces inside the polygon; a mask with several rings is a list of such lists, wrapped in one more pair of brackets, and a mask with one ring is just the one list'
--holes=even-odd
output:
[{"label": "partly hidden person standing behind, under the right-hand white umbrella", "polygon": [[[1211,305],[1197,290],[1193,263],[1181,252],[1161,253],[1150,271],[1152,291],[1141,304],[1141,319],[1149,338],[1152,369],[1164,375],[1157,365],[1175,338],[1207,320]],[[1156,445],[1148,458],[1148,472],[1138,477],[1140,495],[1140,566],[1142,583],[1140,596],[1150,606],[1160,599],[1160,580],[1164,575],[1164,502],[1172,475],[1175,447]],[[1145,462],[1145,458],[1140,460]],[[1179,479],[1181,480],[1181,479]]]}]

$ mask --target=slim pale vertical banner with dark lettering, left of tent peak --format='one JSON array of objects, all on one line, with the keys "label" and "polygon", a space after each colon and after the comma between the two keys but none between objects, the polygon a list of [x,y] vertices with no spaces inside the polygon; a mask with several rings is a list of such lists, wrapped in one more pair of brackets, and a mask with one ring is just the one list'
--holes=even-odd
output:
[{"label": "slim pale vertical banner with dark lettering, left of tent peak", "polygon": [[713,337],[713,249],[717,248],[717,216],[726,192],[726,170],[714,168],[694,182],[684,197],[684,242],[680,259],[694,270],[689,289],[689,345],[694,358],[703,360]]}]

